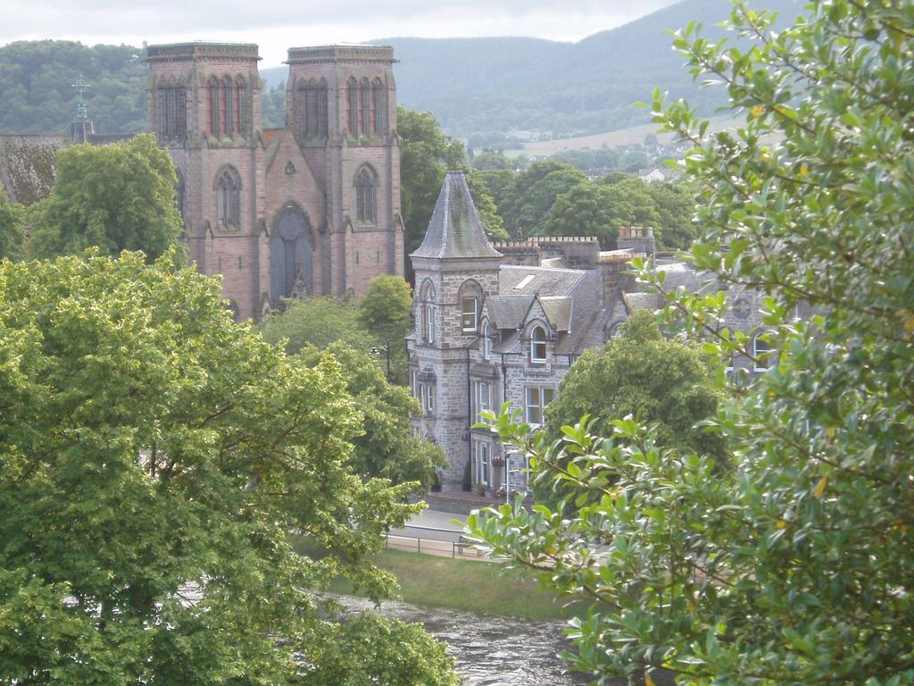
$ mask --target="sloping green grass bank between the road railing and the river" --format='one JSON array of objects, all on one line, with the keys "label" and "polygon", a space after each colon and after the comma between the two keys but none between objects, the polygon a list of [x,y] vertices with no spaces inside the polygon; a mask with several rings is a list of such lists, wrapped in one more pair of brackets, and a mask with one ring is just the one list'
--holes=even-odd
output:
[{"label": "sloping green grass bank between the road railing and the river", "polygon": [[[293,544],[303,552],[314,552],[308,551],[303,541]],[[396,550],[381,551],[374,563],[396,574],[403,600],[413,605],[534,621],[565,619],[584,611],[580,605],[565,607],[557,595],[538,591],[536,581],[500,564]],[[339,579],[330,590],[352,593],[352,584]]]}]

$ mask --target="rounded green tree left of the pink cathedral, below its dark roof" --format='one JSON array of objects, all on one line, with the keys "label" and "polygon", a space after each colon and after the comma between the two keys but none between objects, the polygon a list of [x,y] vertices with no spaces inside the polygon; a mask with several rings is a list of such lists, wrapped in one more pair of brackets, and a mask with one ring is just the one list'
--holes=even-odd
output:
[{"label": "rounded green tree left of the pink cathedral, below its dark roof", "polygon": [[112,145],[73,145],[58,155],[48,198],[28,210],[29,250],[38,258],[99,246],[153,261],[183,228],[175,205],[175,166],[152,134]]}]

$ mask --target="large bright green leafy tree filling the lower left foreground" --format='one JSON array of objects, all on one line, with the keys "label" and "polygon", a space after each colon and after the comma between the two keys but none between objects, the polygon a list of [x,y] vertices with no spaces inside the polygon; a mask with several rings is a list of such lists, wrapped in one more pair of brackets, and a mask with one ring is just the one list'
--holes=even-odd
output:
[{"label": "large bright green leafy tree filling the lower left foreground", "polygon": [[[427,638],[341,626],[315,594],[336,574],[388,593],[367,555],[416,511],[352,473],[339,364],[234,324],[182,262],[0,263],[0,681],[454,683]],[[378,642],[345,679],[338,639]]]}]

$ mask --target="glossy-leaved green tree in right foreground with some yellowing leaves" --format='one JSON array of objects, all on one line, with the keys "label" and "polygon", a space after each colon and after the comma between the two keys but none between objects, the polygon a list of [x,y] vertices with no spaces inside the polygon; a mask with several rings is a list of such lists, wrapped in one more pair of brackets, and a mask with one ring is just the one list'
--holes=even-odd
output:
[{"label": "glossy-leaved green tree in right foreground with some yellowing leaves", "polygon": [[[695,27],[676,38],[747,113],[738,131],[709,134],[685,103],[655,99],[657,121],[696,145],[686,171],[705,235],[692,262],[766,297],[771,369],[715,420],[728,456],[661,447],[631,419],[606,440],[569,428],[559,445],[499,420],[535,471],[569,458],[558,478],[586,505],[470,524],[594,603],[572,629],[573,664],[600,678],[914,681],[914,12],[809,8],[774,31],[738,5],[744,50]],[[720,326],[725,292],[669,297],[721,362],[745,348]]]}]

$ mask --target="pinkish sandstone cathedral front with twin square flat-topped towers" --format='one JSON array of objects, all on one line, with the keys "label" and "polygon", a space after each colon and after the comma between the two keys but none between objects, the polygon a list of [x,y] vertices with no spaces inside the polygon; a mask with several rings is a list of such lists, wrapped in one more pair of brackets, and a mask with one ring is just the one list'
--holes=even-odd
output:
[{"label": "pinkish sandstone cathedral front with twin square flat-topped towers", "polygon": [[256,45],[149,46],[150,129],[178,170],[191,259],[239,318],[403,273],[393,49],[291,48],[264,129]]}]

